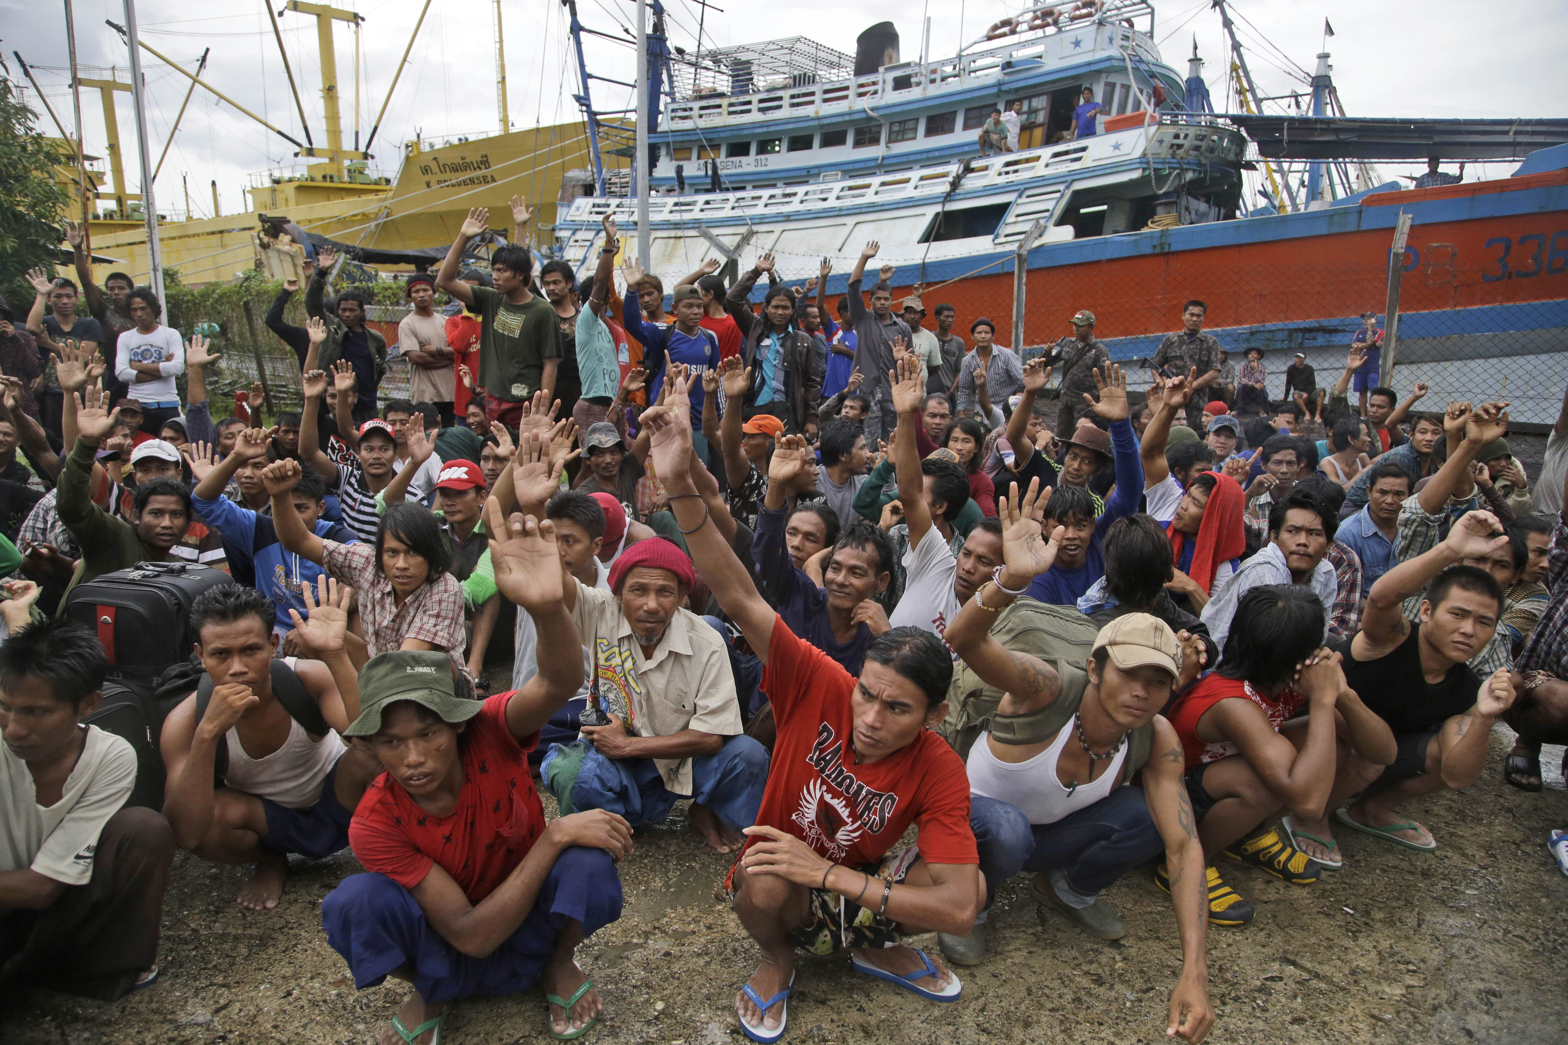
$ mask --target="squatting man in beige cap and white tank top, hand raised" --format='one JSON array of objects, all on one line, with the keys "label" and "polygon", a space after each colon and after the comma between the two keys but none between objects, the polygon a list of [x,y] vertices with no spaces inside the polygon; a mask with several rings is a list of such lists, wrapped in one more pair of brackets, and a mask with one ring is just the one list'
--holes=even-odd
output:
[{"label": "squatting man in beige cap and white tank top, hand raised", "polygon": [[[1201,1042],[1214,1023],[1203,917],[1203,846],[1181,777],[1176,730],[1160,718],[1173,689],[1198,674],[1193,645],[1143,613],[1101,628],[1082,667],[1014,653],[991,636],[996,614],[1043,573],[1062,539],[1047,542],[1044,501],[1030,483],[1022,504],[999,500],[1007,566],[964,603],[947,628],[953,652],[1002,691],[989,730],[969,749],[969,824],[986,879],[986,907],[1019,871],[1033,871],[1030,898],[1083,932],[1118,940],[1127,929],[1099,898],[1112,882],[1165,849],[1176,868],[1176,923],[1184,968],[1171,993],[1170,1028]],[[1152,525],[1152,523],[1151,523]],[[1159,533],[1156,530],[1156,533]],[[1187,671],[1182,671],[1184,661]],[[1151,758],[1152,750],[1160,750]],[[1143,786],[1127,786],[1143,772]],[[988,910],[969,935],[938,937],[960,965],[985,957]]]}]

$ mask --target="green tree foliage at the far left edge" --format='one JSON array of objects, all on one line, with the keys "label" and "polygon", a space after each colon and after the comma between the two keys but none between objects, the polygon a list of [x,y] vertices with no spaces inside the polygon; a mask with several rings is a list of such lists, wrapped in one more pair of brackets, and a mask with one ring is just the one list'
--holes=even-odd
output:
[{"label": "green tree foliage at the far left edge", "polygon": [[36,130],[36,121],[16,83],[0,77],[0,287],[13,307],[33,296],[27,269],[42,265],[53,271],[69,202],[55,182],[58,146]]}]

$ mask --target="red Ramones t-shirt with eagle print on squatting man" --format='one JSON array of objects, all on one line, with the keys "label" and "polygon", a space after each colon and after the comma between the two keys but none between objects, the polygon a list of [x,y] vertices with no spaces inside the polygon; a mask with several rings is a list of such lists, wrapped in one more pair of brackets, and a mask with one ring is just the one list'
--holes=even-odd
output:
[{"label": "red Ramones t-shirt with eagle print on squatting man", "polygon": [[773,703],[778,743],[757,823],[847,866],[877,863],[913,823],[927,863],[978,863],[963,760],[922,729],[898,754],[856,765],[850,708],[856,685],[782,619],[773,622],[762,689]]}]

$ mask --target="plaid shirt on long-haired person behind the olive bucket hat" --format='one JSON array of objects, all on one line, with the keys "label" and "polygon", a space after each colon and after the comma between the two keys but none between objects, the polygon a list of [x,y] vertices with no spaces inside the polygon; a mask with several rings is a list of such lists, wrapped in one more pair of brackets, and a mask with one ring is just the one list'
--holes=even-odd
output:
[{"label": "plaid shirt on long-haired person behind the olive bucket hat", "polygon": [[373,544],[323,541],[321,547],[326,572],[359,592],[359,624],[372,656],[400,649],[403,639],[422,639],[445,652],[458,671],[467,674],[463,661],[463,588],[452,573],[420,584],[398,606],[392,581],[376,569]]}]

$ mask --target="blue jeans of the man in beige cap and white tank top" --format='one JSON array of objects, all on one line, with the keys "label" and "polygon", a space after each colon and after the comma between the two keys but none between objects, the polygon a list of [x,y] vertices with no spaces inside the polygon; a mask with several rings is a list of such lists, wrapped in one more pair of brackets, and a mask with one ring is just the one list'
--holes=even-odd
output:
[{"label": "blue jeans of the man in beige cap and white tank top", "polygon": [[1019,871],[1049,874],[1062,899],[1087,907],[1105,887],[1165,848],[1143,788],[1135,786],[1120,786],[1054,824],[1030,824],[1016,805],[974,796],[969,826],[980,851],[986,910],[997,887]]}]

